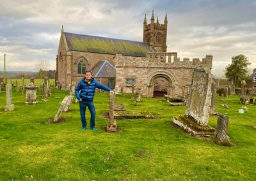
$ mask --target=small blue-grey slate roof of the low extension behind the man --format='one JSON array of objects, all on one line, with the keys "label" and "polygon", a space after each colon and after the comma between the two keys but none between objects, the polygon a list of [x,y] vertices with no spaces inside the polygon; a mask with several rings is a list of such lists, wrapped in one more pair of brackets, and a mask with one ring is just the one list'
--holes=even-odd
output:
[{"label": "small blue-grey slate roof of the low extension behind the man", "polygon": [[116,69],[108,61],[100,61],[92,69],[93,77],[113,77],[116,76]]}]

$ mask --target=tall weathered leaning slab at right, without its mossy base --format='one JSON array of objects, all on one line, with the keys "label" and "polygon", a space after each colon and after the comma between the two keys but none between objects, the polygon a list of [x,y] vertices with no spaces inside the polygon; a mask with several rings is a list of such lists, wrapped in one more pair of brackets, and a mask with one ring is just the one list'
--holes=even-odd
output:
[{"label": "tall weathered leaning slab at right, without its mossy base", "polygon": [[207,126],[211,106],[211,69],[198,67],[193,73],[185,115],[193,117],[198,125]]}]

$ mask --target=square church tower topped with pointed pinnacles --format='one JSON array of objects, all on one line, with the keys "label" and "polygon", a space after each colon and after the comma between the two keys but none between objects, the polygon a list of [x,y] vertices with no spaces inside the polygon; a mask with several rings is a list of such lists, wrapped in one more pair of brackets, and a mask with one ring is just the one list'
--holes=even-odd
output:
[{"label": "square church tower topped with pointed pinnacles", "polygon": [[151,22],[147,24],[145,15],[143,23],[143,42],[150,43],[150,47],[157,50],[157,52],[166,52],[166,38],[167,38],[167,13],[164,18],[164,24],[159,24],[158,17],[155,23],[154,10],[151,15]]}]

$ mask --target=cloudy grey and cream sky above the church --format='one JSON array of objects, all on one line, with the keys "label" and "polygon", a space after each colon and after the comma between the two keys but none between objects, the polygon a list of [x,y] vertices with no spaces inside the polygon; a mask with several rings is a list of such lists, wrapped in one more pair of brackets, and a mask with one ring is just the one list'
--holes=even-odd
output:
[{"label": "cloudy grey and cream sky above the church", "polygon": [[244,54],[256,68],[256,0],[2,0],[0,71],[36,71],[51,62],[61,26],[68,33],[143,41],[143,20],[168,17],[168,52],[178,57],[213,55],[212,73],[223,76],[231,57]]}]

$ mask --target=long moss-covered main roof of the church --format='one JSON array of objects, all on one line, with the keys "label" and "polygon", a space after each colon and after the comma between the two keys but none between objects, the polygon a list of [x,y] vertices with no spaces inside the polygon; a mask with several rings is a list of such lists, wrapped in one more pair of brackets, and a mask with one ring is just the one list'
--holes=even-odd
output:
[{"label": "long moss-covered main roof of the church", "polygon": [[149,43],[100,36],[89,36],[65,32],[68,50],[99,54],[122,54],[134,57],[147,57],[147,52],[156,52]]}]

